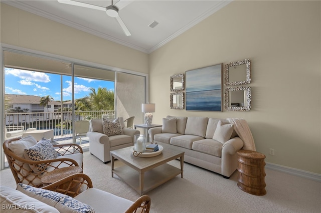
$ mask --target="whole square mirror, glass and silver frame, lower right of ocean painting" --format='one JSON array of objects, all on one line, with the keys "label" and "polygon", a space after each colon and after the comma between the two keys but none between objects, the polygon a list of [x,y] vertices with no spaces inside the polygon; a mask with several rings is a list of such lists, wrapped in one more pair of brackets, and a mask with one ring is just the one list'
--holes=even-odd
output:
[{"label": "whole square mirror, glass and silver frame, lower right of ocean painting", "polygon": [[239,86],[225,89],[225,109],[248,111],[251,109],[251,87]]}]

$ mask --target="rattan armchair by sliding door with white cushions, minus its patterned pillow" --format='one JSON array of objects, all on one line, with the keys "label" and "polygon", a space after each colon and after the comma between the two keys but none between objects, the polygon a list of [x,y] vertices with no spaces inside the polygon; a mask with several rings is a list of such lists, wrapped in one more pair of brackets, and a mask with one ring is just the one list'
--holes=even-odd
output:
[{"label": "rattan armchair by sliding door with white cushions, minus its patterned pillow", "polygon": [[3,144],[9,166],[17,183],[42,187],[41,177],[62,167],[79,166],[83,168],[83,150],[77,144],[53,145],[58,156],[54,159],[31,160],[25,157],[25,148],[30,148],[37,140],[28,135],[23,138],[6,140]]}]

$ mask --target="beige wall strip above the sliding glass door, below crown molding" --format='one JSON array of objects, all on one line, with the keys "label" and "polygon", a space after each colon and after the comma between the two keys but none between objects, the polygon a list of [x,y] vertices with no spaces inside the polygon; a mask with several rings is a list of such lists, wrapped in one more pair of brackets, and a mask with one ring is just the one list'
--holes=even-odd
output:
[{"label": "beige wall strip above the sliding glass door, below crown molding", "polygon": [[1,3],[1,42],[148,73],[148,54]]}]

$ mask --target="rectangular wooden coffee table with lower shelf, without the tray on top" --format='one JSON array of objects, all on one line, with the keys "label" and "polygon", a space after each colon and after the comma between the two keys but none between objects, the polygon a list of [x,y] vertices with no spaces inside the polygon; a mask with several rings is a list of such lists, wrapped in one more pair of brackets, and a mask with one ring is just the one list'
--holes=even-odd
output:
[{"label": "rectangular wooden coffee table with lower shelf, without the tray on top", "polygon": [[[110,151],[111,176],[120,179],[135,189],[140,195],[181,174],[183,178],[184,151],[164,148],[162,153],[152,157],[135,157],[131,147]],[[180,157],[181,168],[167,162]],[[115,158],[125,163],[114,168]]]}]

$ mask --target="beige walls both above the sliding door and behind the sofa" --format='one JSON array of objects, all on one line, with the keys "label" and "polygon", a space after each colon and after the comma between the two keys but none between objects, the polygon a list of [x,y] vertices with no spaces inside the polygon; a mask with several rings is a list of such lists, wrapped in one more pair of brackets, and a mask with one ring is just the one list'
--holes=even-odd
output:
[{"label": "beige walls both above the sliding door and behind the sofa", "polygon": [[[266,161],[321,174],[320,1],[233,1],[148,55],[1,4],[1,42],[149,72],[153,123],[168,114],[241,117]],[[250,111],[170,109],[170,76],[251,59]],[[149,65],[149,67],[148,67]],[[167,86],[168,85],[168,86]],[[268,149],[274,148],[275,155]]]}]

